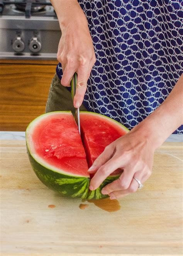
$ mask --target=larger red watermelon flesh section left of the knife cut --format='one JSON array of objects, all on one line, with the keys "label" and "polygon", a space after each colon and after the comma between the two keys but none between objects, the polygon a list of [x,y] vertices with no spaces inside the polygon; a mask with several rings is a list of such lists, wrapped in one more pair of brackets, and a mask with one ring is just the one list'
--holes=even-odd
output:
[{"label": "larger red watermelon flesh section left of the knife cut", "polygon": [[85,150],[71,112],[43,118],[31,136],[36,155],[47,164],[68,173],[89,177]]}]

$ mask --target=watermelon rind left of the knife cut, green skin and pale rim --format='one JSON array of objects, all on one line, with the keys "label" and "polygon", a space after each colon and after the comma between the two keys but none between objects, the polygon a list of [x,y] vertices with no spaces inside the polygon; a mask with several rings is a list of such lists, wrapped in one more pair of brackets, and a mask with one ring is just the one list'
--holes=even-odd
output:
[{"label": "watermelon rind left of the knife cut, green skin and pale rim", "polygon": [[[81,176],[81,175],[73,175],[71,173],[66,173],[62,170],[58,172],[58,170],[53,168],[48,168],[46,166],[46,163],[40,163],[38,159],[35,159],[33,154],[30,153],[31,146],[29,145],[29,131],[31,127],[37,123],[38,120],[40,120],[45,115],[50,114],[71,114],[70,111],[54,111],[54,112],[48,112],[45,114],[40,115],[39,117],[36,117],[30,124],[27,126],[27,129],[25,131],[25,137],[26,137],[26,147],[27,147],[27,154],[29,157],[30,164],[32,166],[32,169],[36,173],[39,180],[42,181],[44,185],[46,185],[48,188],[51,188],[52,190],[62,194],[65,197],[73,197],[73,198],[86,198],[88,195],[89,190],[89,183],[90,178]],[[71,185],[72,184],[72,185]]]}]

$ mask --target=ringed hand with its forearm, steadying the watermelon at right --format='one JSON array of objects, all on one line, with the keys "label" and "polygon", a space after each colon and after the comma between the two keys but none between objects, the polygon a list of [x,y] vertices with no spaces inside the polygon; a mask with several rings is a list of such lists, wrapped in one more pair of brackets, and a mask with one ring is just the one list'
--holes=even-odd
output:
[{"label": "ringed hand with its forearm, steadying the watermelon at right", "polygon": [[[112,142],[90,167],[95,173],[90,190],[117,168],[123,169],[118,180],[102,189],[111,199],[135,192],[139,186],[133,177],[144,183],[152,171],[154,151],[183,123],[183,75],[164,102],[130,132]],[[88,170],[88,171],[89,171]]]}]

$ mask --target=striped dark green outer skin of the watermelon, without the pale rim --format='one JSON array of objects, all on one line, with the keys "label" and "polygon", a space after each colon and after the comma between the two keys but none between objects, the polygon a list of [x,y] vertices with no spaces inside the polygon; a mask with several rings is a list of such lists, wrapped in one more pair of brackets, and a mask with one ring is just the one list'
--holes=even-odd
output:
[{"label": "striped dark green outer skin of the watermelon, without the pale rim", "polygon": [[118,176],[107,177],[99,188],[90,191],[90,178],[77,177],[70,175],[63,175],[61,173],[49,170],[45,166],[39,164],[30,154],[27,147],[27,154],[29,157],[32,169],[36,173],[36,176],[41,182],[48,188],[51,188],[55,192],[61,194],[64,197],[82,198],[82,199],[104,199],[109,197],[103,195],[101,190],[104,186],[119,178]]}]

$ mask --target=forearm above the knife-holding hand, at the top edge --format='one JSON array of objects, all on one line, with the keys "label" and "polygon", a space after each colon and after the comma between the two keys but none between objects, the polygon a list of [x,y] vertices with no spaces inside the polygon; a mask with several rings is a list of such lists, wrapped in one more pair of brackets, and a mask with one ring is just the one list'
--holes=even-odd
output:
[{"label": "forearm above the knife-holding hand, at the top edge", "polygon": [[[56,12],[61,30],[68,26],[70,22],[86,22],[86,17],[81,9],[78,0],[51,0],[51,4]],[[78,15],[80,19],[77,19]],[[88,23],[87,23],[88,24]]]}]

